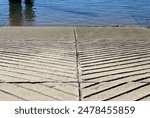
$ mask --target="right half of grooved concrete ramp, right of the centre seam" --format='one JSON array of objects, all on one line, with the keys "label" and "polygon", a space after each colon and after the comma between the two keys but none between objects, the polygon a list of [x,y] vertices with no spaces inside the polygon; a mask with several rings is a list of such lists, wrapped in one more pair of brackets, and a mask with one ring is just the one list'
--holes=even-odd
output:
[{"label": "right half of grooved concrete ramp, right of the centre seam", "polygon": [[145,86],[123,95],[149,84],[150,30],[79,27],[76,34],[82,100],[142,100],[150,94],[149,86]]}]

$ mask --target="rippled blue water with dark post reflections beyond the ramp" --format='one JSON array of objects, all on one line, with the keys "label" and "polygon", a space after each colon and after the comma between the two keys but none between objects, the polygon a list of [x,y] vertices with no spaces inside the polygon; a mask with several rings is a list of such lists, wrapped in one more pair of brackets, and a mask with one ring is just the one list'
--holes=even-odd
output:
[{"label": "rippled blue water with dark post reflections beyond the ramp", "polygon": [[0,0],[0,26],[150,26],[150,0]]}]

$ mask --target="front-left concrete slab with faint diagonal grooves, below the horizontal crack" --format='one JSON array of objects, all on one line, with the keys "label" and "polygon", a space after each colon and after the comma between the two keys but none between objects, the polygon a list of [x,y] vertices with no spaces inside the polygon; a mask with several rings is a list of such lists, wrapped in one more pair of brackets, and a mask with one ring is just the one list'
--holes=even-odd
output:
[{"label": "front-left concrete slab with faint diagonal grooves, below the horizontal crack", "polygon": [[[71,90],[68,91],[68,89]],[[78,100],[77,84],[0,83],[0,100],[64,101]]]}]

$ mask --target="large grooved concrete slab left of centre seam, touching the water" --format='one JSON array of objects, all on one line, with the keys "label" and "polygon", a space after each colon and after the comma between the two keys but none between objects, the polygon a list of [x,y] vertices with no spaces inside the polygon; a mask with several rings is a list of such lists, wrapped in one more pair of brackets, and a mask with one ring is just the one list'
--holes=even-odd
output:
[{"label": "large grooved concrete slab left of centre seam, touching the water", "polygon": [[73,28],[0,28],[4,82],[77,81]]}]

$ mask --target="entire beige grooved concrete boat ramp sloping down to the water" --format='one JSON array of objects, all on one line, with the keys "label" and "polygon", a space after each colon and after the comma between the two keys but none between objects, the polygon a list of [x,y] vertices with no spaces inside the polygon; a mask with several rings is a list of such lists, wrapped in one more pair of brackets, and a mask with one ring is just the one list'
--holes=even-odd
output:
[{"label": "entire beige grooved concrete boat ramp sloping down to the water", "polygon": [[150,101],[150,30],[0,28],[0,100]]}]

